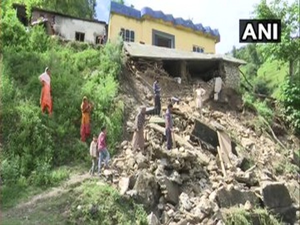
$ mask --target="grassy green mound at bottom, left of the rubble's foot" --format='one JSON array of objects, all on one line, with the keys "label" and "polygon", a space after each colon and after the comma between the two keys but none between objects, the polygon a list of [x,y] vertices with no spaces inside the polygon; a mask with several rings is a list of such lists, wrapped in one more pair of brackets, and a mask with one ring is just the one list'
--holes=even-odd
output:
[{"label": "grassy green mound at bottom, left of the rubble's foot", "polygon": [[109,185],[87,181],[75,190],[70,222],[84,224],[147,224],[141,205],[122,198]]}]

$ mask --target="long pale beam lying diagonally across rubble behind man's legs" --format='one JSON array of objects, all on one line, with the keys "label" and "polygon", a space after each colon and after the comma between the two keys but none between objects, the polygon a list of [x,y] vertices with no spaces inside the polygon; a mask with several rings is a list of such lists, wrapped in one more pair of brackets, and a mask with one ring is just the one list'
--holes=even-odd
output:
[{"label": "long pale beam lying diagonally across rubble behind man's legs", "polygon": [[[162,133],[163,135],[165,135],[165,128],[162,127],[162,126],[159,126],[157,124],[154,124],[154,123],[149,123],[148,124],[148,127]],[[177,135],[174,133],[174,138],[175,140],[173,141],[176,141],[180,146],[184,146],[185,148],[187,149],[190,149],[190,150],[195,150],[195,147],[193,145],[191,145],[188,141],[186,141],[184,138],[182,138],[181,136]],[[196,152],[197,156],[198,156],[198,159],[200,160],[201,164],[204,164],[204,165],[207,165],[208,162],[209,162],[209,157],[207,157],[204,153],[200,152],[199,150]]]}]

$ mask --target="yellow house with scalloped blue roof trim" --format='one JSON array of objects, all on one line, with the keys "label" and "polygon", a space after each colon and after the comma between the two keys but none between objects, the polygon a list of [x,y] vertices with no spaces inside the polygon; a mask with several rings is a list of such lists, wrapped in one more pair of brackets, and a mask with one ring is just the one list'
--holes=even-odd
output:
[{"label": "yellow house with scalloped blue roof trim", "polygon": [[215,44],[220,41],[217,29],[201,23],[174,18],[149,7],[139,11],[111,1],[108,39],[118,35],[124,41],[205,53],[215,53]]}]

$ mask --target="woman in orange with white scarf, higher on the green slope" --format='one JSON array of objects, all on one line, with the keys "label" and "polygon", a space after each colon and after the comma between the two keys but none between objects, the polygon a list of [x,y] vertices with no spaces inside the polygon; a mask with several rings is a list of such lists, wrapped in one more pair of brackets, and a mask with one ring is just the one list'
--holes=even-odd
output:
[{"label": "woman in orange with white scarf, higher on the green slope", "polygon": [[50,69],[48,67],[46,67],[45,72],[39,76],[39,80],[42,85],[39,104],[41,107],[42,114],[44,113],[45,109],[47,108],[49,115],[52,115],[52,97],[51,97],[51,85],[50,85],[51,77],[50,76],[51,76],[51,73],[50,73]]}]

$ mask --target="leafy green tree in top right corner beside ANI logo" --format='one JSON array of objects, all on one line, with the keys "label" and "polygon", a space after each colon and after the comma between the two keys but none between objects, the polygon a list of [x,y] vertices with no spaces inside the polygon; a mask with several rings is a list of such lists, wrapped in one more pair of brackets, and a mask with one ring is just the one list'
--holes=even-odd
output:
[{"label": "leafy green tree in top right corner beside ANI logo", "polygon": [[288,4],[286,0],[272,0],[269,4],[261,0],[255,6],[254,15],[258,19],[281,19],[281,42],[261,45],[265,58],[289,63],[289,76],[300,58],[299,5],[297,0]]}]

